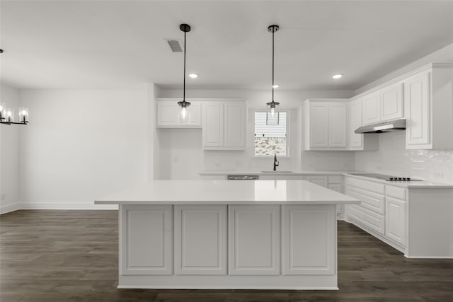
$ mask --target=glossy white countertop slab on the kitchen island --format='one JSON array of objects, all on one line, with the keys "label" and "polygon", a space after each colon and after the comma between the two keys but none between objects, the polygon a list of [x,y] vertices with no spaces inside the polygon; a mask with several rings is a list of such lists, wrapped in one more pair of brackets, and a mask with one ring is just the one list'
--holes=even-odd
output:
[{"label": "glossy white countertop slab on the kitchen island", "polygon": [[360,204],[305,180],[152,180],[95,204]]}]

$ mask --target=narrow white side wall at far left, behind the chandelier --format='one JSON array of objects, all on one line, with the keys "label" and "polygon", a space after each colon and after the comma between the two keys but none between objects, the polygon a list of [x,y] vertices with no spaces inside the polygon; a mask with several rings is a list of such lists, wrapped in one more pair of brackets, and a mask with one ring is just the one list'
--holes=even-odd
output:
[{"label": "narrow white side wall at far left, behind the chandelier", "polygon": [[[19,91],[0,86],[0,102],[17,114]],[[19,202],[19,129],[23,125],[0,125],[0,214],[18,209]]]}]

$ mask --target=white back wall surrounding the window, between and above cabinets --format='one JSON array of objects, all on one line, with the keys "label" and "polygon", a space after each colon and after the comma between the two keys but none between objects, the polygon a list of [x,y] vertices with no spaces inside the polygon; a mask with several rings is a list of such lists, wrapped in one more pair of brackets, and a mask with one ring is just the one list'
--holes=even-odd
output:
[{"label": "white back wall surrounding the window, between and above cabinets", "polygon": [[[159,91],[158,97],[180,97],[180,90]],[[276,91],[275,101],[289,110],[289,157],[280,157],[281,170],[351,170],[354,168],[352,151],[303,151],[302,117],[300,107],[306,98],[348,98],[351,91]],[[248,123],[246,151],[203,151],[201,129],[159,129],[160,169],[156,178],[198,179],[200,170],[269,170],[272,158],[253,157],[253,110],[265,109],[270,91],[190,90],[190,97],[246,98]],[[303,112],[302,112],[303,113]]]}]

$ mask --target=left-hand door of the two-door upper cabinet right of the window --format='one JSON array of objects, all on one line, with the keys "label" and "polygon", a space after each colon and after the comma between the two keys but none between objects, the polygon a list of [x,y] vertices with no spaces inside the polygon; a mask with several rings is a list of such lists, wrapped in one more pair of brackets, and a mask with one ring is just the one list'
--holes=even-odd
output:
[{"label": "left-hand door of the two-door upper cabinet right of the window", "polygon": [[328,103],[310,103],[310,147],[328,147]]}]

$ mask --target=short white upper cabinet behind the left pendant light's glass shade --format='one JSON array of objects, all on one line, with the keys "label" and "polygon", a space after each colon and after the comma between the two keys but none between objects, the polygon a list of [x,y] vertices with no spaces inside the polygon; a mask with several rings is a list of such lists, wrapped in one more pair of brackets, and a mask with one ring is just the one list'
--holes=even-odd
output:
[{"label": "short white upper cabinet behind the left pendant light's glass shade", "polygon": [[159,128],[200,128],[201,127],[201,103],[188,100],[190,106],[187,108],[190,112],[190,124],[180,125],[178,123],[178,98],[166,98],[156,102],[156,127]]}]

